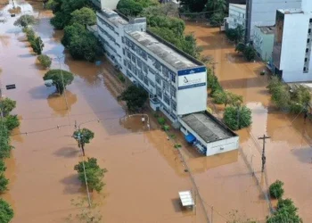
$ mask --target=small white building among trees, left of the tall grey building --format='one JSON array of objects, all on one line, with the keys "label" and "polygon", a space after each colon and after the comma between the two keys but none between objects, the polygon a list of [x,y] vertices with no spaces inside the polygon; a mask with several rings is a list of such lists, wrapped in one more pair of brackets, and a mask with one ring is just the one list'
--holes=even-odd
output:
[{"label": "small white building among trees, left of the tall grey building", "polygon": [[228,17],[225,20],[226,29],[235,29],[238,25],[245,27],[246,4],[229,4]]}]

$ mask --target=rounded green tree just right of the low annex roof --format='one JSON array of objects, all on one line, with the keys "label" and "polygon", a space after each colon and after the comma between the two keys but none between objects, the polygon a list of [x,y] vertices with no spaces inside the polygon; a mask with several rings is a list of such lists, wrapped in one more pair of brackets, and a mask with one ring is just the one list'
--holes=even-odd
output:
[{"label": "rounded green tree just right of the low annex roof", "polygon": [[226,126],[233,130],[249,127],[251,121],[251,111],[246,106],[226,107],[223,120]]}]

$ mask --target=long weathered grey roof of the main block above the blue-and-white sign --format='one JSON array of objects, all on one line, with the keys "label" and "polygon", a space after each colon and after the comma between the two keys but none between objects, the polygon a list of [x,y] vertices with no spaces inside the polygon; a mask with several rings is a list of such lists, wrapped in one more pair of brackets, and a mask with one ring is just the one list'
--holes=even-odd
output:
[{"label": "long weathered grey roof of the main block above the blue-and-white sign", "polygon": [[161,43],[152,35],[141,32],[127,32],[130,37],[133,37],[136,42],[149,49],[153,54],[159,56],[163,61],[167,62],[177,70],[198,67],[199,65],[179,54],[173,48]]}]

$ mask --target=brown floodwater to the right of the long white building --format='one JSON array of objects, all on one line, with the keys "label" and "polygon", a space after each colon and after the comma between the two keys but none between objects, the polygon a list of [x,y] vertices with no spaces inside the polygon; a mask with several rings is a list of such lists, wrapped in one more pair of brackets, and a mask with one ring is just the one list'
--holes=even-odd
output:
[{"label": "brown floodwater to the right of the long white building", "polygon": [[[299,207],[304,222],[312,222],[312,122],[304,123],[302,115],[293,116],[277,111],[270,103],[267,92],[267,76],[260,76],[265,66],[261,62],[245,62],[234,53],[234,45],[227,42],[218,29],[199,23],[189,23],[188,32],[194,32],[203,54],[214,58],[215,73],[226,89],[242,95],[252,111],[252,126],[239,131],[242,151],[255,171],[261,169],[262,142],[257,137],[266,134],[268,183],[275,179],[285,185],[285,197],[290,197]],[[220,108],[222,112],[223,108]],[[240,162],[240,158],[238,162]],[[259,178],[264,178],[257,173]],[[242,176],[234,177],[240,182]],[[264,182],[261,182],[264,184]],[[235,183],[236,184],[236,183]],[[242,193],[242,190],[241,190]],[[254,201],[259,202],[259,201]],[[256,211],[256,210],[254,210]]]}]

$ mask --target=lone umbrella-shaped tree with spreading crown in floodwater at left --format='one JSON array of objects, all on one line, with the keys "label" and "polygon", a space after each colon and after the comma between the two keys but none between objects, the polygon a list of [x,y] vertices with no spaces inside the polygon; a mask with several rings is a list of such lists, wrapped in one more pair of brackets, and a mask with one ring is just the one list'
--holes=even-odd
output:
[{"label": "lone umbrella-shaped tree with spreading crown in floodwater at left", "polygon": [[74,76],[66,70],[49,70],[45,73],[44,80],[52,79],[53,86],[56,87],[56,92],[62,95],[66,86],[70,85]]}]

